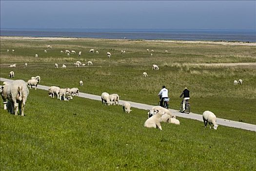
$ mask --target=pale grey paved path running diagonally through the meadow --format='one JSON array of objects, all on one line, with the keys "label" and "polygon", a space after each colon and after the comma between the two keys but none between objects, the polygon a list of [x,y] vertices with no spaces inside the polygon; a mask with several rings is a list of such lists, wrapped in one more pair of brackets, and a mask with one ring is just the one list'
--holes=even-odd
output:
[{"label": "pale grey paved path running diagonally through the meadow", "polygon": [[[13,80],[0,78],[0,81],[12,82]],[[49,86],[38,85],[38,88],[43,89],[43,90],[48,90]],[[87,93],[79,92],[79,97],[101,101],[100,96],[93,95],[93,94],[87,94]],[[123,102],[124,102],[123,100],[120,100],[119,104],[122,105]],[[129,102],[129,103],[131,104],[132,107],[139,108],[139,109],[144,109],[144,110],[150,110],[153,107],[151,105],[146,105],[146,104],[141,104],[141,103],[135,103],[135,102]],[[194,119],[194,120],[203,122],[201,114],[196,114],[196,113],[192,113],[192,112],[189,113],[189,114],[185,114],[185,113],[180,113],[180,112],[178,112],[177,110],[174,110],[174,109],[169,109],[169,110],[174,115],[176,115],[178,117],[187,118],[187,119]],[[237,121],[231,121],[231,120],[228,120],[228,119],[217,118],[217,124],[227,126],[227,127],[241,128],[241,129],[256,131],[256,125],[246,124],[246,123],[237,122]]]}]

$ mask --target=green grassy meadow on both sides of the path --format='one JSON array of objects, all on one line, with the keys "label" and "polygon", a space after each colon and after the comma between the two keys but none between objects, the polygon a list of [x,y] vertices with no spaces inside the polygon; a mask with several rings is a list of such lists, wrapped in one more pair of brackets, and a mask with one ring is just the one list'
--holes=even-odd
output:
[{"label": "green grassy meadow on both sides of the path", "polygon": [[[53,49],[47,49],[48,44]],[[91,48],[99,54],[89,53]],[[7,49],[15,52],[7,53]],[[82,51],[82,56],[60,54],[66,49]],[[152,57],[146,49],[154,49]],[[93,65],[76,68],[73,63],[78,60]],[[0,42],[1,78],[8,78],[13,70],[15,79],[25,81],[39,75],[41,85],[79,87],[83,80],[81,92],[118,93],[121,100],[149,105],[157,105],[157,94],[166,85],[174,109],[187,86],[192,112],[211,110],[220,118],[256,124],[255,66],[197,65],[252,62],[256,62],[254,46],[103,39]],[[8,68],[13,63],[17,67]],[[67,68],[57,69],[55,63]],[[160,69],[153,71],[153,64]],[[149,76],[142,78],[143,72]],[[234,86],[238,79],[243,85]],[[143,127],[145,110],[133,108],[124,114],[120,106],[78,97],[63,102],[39,89],[30,90],[24,118],[8,114],[2,106],[0,112],[1,170],[256,169],[253,131],[224,126],[212,130],[202,122],[183,118],[178,118],[180,126],[163,123],[163,131],[149,129]]]}]

